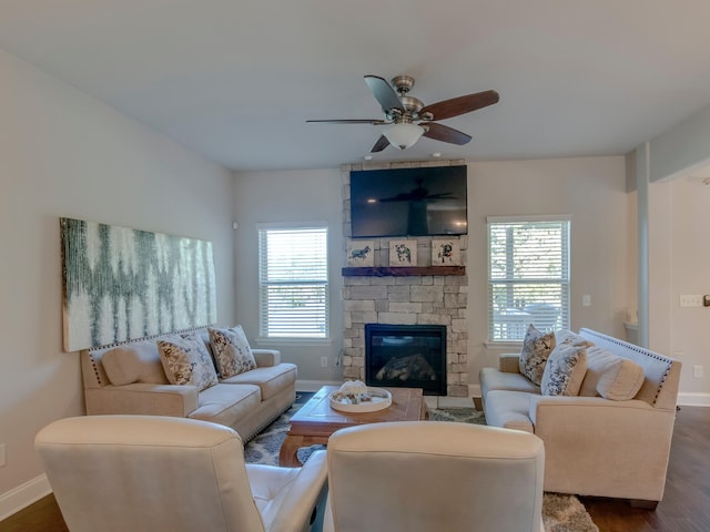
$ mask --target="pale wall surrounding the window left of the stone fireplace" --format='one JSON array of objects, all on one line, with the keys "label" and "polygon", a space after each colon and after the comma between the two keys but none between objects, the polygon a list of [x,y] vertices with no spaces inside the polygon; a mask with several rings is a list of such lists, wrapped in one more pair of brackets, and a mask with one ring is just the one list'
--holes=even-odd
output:
[{"label": "pale wall surrounding the window left of the stone fireplace", "polygon": [[[339,168],[244,172],[236,174],[234,219],[236,231],[236,320],[255,347],[282,351],[284,361],[298,365],[298,380],[339,381],[336,360],[343,348],[343,198]],[[326,222],[331,275],[331,342],[256,342],[258,336],[258,223]],[[321,358],[327,357],[327,368]],[[317,386],[317,385],[316,385]],[[305,387],[303,388],[306,389]]]}]

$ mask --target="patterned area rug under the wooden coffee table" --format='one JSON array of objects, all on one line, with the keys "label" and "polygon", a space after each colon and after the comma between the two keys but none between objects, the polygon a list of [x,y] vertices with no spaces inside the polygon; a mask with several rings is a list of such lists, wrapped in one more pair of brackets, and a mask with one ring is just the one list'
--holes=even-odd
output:
[{"label": "patterned area rug under the wooden coffee table", "polygon": [[[278,450],[286,438],[288,420],[302,406],[303,403],[296,402],[244,447],[247,463],[278,466]],[[430,409],[429,420],[486,424],[484,413],[473,408]],[[305,462],[318,449],[325,449],[325,446],[300,449],[298,460]],[[599,532],[584,504],[575,495],[545,493],[542,522],[545,532]]]}]

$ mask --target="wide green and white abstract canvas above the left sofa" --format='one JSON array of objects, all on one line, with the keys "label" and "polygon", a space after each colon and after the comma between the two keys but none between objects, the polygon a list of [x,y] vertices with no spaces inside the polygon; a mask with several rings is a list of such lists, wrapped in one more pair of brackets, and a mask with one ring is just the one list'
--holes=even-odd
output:
[{"label": "wide green and white abstract canvas above the left sofa", "polygon": [[64,350],[216,321],[212,243],[60,218]]}]

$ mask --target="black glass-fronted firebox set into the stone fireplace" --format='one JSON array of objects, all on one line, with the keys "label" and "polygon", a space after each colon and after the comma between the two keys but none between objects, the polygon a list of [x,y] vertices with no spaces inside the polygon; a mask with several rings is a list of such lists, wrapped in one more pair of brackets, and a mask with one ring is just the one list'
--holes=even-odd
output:
[{"label": "black glass-fronted firebox set into the stone fireplace", "polygon": [[365,383],[446,396],[446,326],[365,324]]}]

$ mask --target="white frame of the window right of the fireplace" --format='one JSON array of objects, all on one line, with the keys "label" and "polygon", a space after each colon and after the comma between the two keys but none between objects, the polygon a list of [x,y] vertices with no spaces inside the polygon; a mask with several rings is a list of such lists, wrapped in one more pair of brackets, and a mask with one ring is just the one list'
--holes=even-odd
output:
[{"label": "white frame of the window right of the fireplace", "polygon": [[[557,248],[560,252],[560,276],[559,277],[545,277],[538,276],[536,278],[526,278],[515,276],[507,276],[503,279],[493,277],[493,252],[491,248],[491,228],[496,225],[515,225],[515,224],[555,224],[559,223],[561,228],[560,247]],[[514,328],[515,336],[501,337],[501,334],[497,332],[508,327],[509,324],[504,324],[500,320],[496,320],[497,313],[494,305],[495,287],[496,285],[506,284],[509,287],[520,285],[555,285],[559,287],[559,316],[555,318],[555,325],[552,328],[569,328],[571,323],[571,215],[568,214],[550,214],[550,215],[531,215],[531,216],[487,216],[486,218],[486,247],[487,247],[487,321],[488,321],[488,342],[496,346],[503,346],[506,344],[519,345],[525,338],[525,331],[527,326],[535,318],[529,317],[528,314],[524,314],[523,308],[517,308],[516,305],[511,305],[511,309],[520,311],[520,317],[515,317],[516,327]],[[514,298],[515,299],[515,298]],[[542,303],[542,301],[537,301]],[[527,319],[526,319],[527,318]],[[545,319],[545,318],[542,318]]]}]

